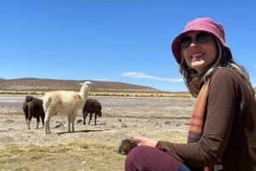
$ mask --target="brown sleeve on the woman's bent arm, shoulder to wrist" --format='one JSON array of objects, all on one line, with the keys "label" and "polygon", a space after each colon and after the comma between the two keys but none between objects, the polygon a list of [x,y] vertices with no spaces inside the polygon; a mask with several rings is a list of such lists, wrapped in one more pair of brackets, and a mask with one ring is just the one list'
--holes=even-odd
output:
[{"label": "brown sleeve on the woman's bent arm, shoulder to wrist", "polygon": [[207,118],[201,140],[190,144],[163,141],[160,150],[192,167],[217,164],[230,137],[238,93],[236,76],[227,69],[218,69],[209,83]]}]

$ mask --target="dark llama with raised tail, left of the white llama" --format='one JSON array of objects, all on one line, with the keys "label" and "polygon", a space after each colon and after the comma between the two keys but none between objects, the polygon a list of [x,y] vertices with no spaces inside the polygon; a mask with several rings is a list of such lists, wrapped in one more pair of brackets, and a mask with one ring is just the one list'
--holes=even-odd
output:
[{"label": "dark llama with raised tail, left of the white llama", "polygon": [[30,129],[32,117],[37,117],[37,128],[41,117],[44,127],[45,113],[43,108],[43,100],[39,100],[38,98],[34,98],[33,96],[27,95],[26,100],[24,100],[23,102],[22,109],[25,113],[26,124],[28,129]]}]

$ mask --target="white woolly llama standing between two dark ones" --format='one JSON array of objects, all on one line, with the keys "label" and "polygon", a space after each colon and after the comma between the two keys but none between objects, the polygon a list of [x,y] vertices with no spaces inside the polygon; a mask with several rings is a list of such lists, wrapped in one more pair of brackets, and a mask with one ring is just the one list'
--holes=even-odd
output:
[{"label": "white woolly llama standing between two dark ones", "polygon": [[72,132],[74,132],[74,121],[77,112],[82,109],[88,98],[90,88],[93,87],[90,82],[80,83],[80,85],[82,87],[79,93],[59,90],[44,94],[45,134],[50,134],[49,120],[57,113],[67,114],[68,132],[71,132],[70,124],[72,124]]}]

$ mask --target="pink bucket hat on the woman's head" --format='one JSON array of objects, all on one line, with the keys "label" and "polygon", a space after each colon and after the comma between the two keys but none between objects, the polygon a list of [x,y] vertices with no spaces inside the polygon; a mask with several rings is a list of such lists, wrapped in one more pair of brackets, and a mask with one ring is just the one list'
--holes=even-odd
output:
[{"label": "pink bucket hat on the woman's head", "polygon": [[183,34],[188,31],[207,31],[212,33],[218,40],[224,45],[224,47],[230,48],[225,43],[225,33],[224,27],[220,23],[214,22],[210,18],[198,18],[190,21],[187,26],[185,26],[184,31],[179,33],[172,41],[172,54],[178,64],[181,63],[181,47],[179,40],[183,37]]}]

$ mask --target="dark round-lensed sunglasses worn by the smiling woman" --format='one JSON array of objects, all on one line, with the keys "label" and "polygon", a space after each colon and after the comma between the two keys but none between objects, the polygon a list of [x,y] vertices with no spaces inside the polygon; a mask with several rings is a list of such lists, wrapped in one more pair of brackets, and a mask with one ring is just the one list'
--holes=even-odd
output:
[{"label": "dark round-lensed sunglasses worn by the smiling woman", "polygon": [[[207,43],[209,40],[210,34],[207,31],[202,31],[198,33],[195,37],[197,43]],[[192,43],[192,37],[182,37],[179,40],[179,44],[182,48],[189,48]]]}]

